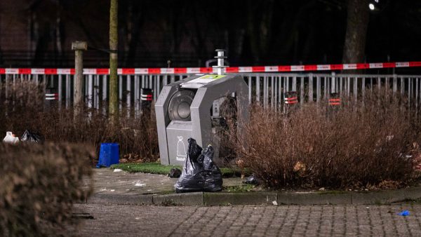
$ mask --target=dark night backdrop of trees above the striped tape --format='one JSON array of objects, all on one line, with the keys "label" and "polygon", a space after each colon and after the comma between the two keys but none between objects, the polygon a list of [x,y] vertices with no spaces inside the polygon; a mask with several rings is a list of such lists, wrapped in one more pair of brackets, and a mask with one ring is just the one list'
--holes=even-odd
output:
[{"label": "dark night backdrop of trees above the striped tape", "polygon": [[[368,2],[364,61],[421,60],[421,1]],[[107,0],[1,0],[0,67],[74,67],[72,41],[106,49],[108,27]],[[346,29],[345,0],[120,0],[119,67],[205,67],[215,48],[233,66],[341,63]]]}]

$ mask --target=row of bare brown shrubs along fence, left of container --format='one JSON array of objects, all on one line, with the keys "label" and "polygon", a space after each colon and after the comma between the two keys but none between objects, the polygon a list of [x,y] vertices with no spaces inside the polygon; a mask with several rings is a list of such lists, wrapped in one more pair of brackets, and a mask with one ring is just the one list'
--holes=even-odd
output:
[{"label": "row of bare brown shrubs along fence, left of container", "polygon": [[[3,87],[3,88],[1,88]],[[47,141],[79,142],[99,151],[102,142],[117,142],[121,156],[131,154],[137,161],[156,161],[159,158],[158,135],[154,111],[140,118],[126,116],[121,111],[116,123],[111,123],[102,110],[81,108],[81,116],[74,117],[74,108],[58,109],[58,104],[44,108],[40,86],[30,81],[8,85],[0,83],[0,135],[13,131],[22,135],[25,130],[41,133]],[[14,88],[14,89],[13,89]],[[22,93],[24,92],[25,93]],[[17,96],[20,95],[20,96]],[[22,102],[21,102],[22,101]]]}]

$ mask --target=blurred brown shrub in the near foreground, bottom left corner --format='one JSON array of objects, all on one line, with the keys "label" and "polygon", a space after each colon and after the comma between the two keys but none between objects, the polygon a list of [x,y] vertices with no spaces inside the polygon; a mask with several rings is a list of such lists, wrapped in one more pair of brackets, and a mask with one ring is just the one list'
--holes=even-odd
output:
[{"label": "blurred brown shrub in the near foreground, bottom left corner", "polygon": [[92,155],[81,144],[1,143],[0,236],[53,235],[72,223],[73,203],[93,190],[83,187]]}]

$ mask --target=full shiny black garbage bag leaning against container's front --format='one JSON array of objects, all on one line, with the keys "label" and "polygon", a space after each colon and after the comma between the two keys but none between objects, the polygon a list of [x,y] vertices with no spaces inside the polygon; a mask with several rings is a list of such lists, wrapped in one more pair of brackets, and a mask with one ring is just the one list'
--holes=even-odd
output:
[{"label": "full shiny black garbage bag leaning against container's front", "polygon": [[189,138],[189,148],[185,165],[178,182],[176,193],[189,191],[221,191],[222,172],[213,162],[213,147],[202,149],[196,140]]}]

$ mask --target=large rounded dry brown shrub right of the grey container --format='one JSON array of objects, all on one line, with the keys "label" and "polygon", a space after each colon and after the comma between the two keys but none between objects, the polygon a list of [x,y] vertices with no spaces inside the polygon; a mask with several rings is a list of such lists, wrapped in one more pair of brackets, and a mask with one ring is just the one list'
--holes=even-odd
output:
[{"label": "large rounded dry brown shrub right of the grey container", "polygon": [[[267,187],[361,188],[413,175],[417,130],[401,99],[388,90],[341,107],[305,104],[283,114],[253,107],[236,152]],[[361,101],[361,100],[360,100]]]}]

